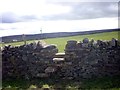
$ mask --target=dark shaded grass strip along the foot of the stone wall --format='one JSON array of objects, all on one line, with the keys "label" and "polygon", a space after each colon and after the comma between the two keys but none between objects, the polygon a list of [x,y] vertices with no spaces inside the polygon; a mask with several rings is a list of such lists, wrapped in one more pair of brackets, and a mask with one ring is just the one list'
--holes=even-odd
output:
[{"label": "dark shaded grass strip along the foot of the stone wall", "polygon": [[[3,80],[3,87],[7,88],[61,88],[60,90],[120,90],[120,76],[92,78],[87,80],[58,79],[32,79],[32,80]],[[13,90],[13,89],[11,89]],[[14,89],[18,90],[18,89]],[[55,89],[56,90],[56,89]]]}]

